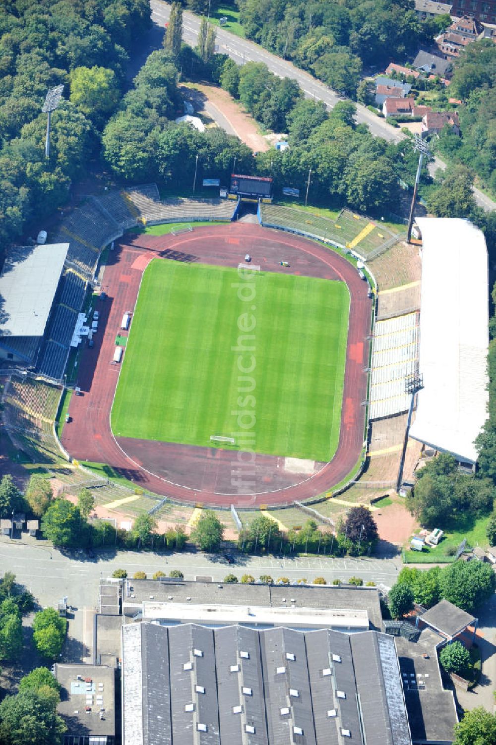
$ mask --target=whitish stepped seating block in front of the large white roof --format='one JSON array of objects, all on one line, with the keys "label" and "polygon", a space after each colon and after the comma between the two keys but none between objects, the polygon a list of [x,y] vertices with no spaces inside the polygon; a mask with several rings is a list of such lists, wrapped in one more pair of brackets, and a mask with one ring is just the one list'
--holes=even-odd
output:
[{"label": "whitish stepped seating block in front of the large white roof", "polygon": [[418,313],[377,321],[372,340],[369,419],[406,411],[405,378],[418,371]]}]

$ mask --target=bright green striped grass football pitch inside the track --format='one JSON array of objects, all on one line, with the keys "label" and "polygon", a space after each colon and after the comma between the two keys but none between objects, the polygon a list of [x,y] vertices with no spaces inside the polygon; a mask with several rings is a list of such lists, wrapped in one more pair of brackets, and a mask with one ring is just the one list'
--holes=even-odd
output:
[{"label": "bright green striped grass football pitch inside the track", "polygon": [[[339,443],[345,282],[154,259],[113,402],[116,437],[327,461]],[[248,447],[241,447],[248,449]]]}]

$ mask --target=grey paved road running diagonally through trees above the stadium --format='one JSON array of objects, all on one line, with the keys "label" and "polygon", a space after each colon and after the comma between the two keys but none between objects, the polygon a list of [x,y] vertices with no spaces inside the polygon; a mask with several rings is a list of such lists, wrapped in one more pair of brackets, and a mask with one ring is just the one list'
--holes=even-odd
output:
[{"label": "grey paved road running diagonally through trees above the stadium", "polygon": [[[163,28],[167,19],[169,19],[169,4],[162,0],[151,0],[150,5],[152,20]],[[183,39],[192,46],[196,45],[199,25],[200,19],[198,16],[194,16],[187,10],[183,11]],[[328,88],[324,83],[316,80],[309,73],[298,69],[298,67],[295,67],[286,60],[282,60],[280,57],[276,57],[263,47],[254,44],[254,42],[250,42],[247,39],[240,39],[234,34],[231,34],[230,31],[226,31],[225,28],[217,28],[216,32],[219,52],[228,54],[236,63],[266,63],[274,75],[291,77],[293,80],[297,80],[307,98],[324,101],[329,109],[332,109],[337,101],[345,101],[344,97]],[[383,137],[390,142],[401,142],[401,140],[405,139],[405,135],[400,130],[387,124],[386,121],[374,115],[361,104],[357,104],[357,121],[360,124],[367,124],[369,130],[375,136]],[[433,175],[439,168],[446,168],[446,164],[436,157],[434,162],[430,164],[430,174]],[[474,188],[474,197],[477,204],[486,210],[486,212],[496,209],[496,203],[489,199],[489,197],[486,197],[486,194],[483,194],[479,189]]]}]

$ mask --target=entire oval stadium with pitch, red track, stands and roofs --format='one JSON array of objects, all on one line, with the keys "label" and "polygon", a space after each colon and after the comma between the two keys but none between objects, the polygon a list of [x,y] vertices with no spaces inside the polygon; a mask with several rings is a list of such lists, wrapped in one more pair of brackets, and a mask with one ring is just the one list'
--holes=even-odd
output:
[{"label": "entire oval stadium with pitch, red track, stands and roofs", "polygon": [[[374,277],[398,235],[347,209],[333,221],[275,205],[261,181],[233,174],[230,198],[218,200],[161,200],[153,184],[88,197],[51,244],[7,257],[3,419],[19,448],[38,460],[40,449],[57,449],[53,421],[76,361],[81,395],[60,437],[65,457],[106,464],[157,499],[242,509],[317,501],[357,478],[384,422],[414,401],[411,436],[474,465],[486,418],[480,232],[466,221],[419,221],[422,281],[404,285],[398,303],[400,293],[381,292]],[[256,223],[236,219],[243,200],[255,200]],[[129,232],[161,223],[183,228]],[[478,257],[471,276],[462,271],[468,245]],[[30,288],[48,252],[50,269]],[[451,384],[439,396],[439,345],[429,335],[439,308],[429,308],[455,287],[469,323],[445,335]],[[415,292],[421,308],[409,305]]]}]

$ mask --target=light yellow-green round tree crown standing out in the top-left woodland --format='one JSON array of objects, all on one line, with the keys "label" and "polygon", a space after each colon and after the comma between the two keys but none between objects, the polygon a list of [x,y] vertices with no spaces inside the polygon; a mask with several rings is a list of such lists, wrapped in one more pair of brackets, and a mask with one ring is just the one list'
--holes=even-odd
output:
[{"label": "light yellow-green round tree crown standing out in the top-left woodland", "polygon": [[119,82],[106,67],[76,67],[70,75],[71,103],[90,121],[101,124],[119,103]]}]

